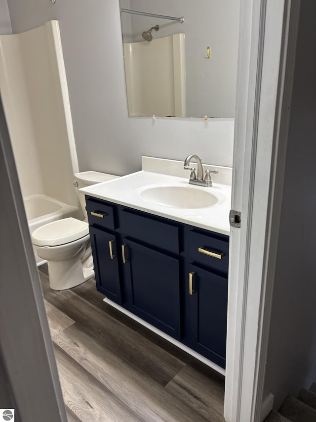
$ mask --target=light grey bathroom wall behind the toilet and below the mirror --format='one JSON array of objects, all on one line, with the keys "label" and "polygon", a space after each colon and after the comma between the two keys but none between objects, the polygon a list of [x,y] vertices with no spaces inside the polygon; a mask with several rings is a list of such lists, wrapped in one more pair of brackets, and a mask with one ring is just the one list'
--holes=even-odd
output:
[{"label": "light grey bathroom wall behind the toilet and below the mirror", "polygon": [[141,155],[231,166],[234,121],[128,118],[118,0],[10,0],[14,33],[60,23],[79,169],[137,171]]}]

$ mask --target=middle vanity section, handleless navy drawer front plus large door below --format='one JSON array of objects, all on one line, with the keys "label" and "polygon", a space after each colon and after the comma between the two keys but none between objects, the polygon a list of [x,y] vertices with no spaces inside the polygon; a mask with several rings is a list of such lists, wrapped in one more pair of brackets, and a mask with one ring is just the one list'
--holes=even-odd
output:
[{"label": "middle vanity section, handleless navy drawer front plus large door below", "polygon": [[123,208],[119,212],[125,307],[166,334],[181,338],[183,225]]}]

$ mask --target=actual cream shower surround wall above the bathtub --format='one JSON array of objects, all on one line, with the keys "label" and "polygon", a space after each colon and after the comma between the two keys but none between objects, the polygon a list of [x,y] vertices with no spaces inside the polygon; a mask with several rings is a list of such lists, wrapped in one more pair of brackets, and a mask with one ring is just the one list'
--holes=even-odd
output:
[{"label": "actual cream shower surround wall above the bathtub", "polygon": [[58,21],[0,36],[0,90],[23,197],[46,195],[82,217]]}]

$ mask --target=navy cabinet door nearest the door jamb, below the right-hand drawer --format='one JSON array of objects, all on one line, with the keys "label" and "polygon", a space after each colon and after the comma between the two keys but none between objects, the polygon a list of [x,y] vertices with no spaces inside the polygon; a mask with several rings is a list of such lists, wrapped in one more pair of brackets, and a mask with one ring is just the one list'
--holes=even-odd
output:
[{"label": "navy cabinet door nearest the door jamb, below the right-hand drawer", "polygon": [[[225,368],[227,326],[227,279],[190,266],[189,292],[192,348]],[[190,294],[192,293],[192,295]]]}]

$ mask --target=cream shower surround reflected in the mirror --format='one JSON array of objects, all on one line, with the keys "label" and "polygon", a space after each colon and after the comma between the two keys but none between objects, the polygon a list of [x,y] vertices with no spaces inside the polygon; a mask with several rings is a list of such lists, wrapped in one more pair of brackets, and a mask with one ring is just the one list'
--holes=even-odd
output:
[{"label": "cream shower surround reflected in the mirror", "polygon": [[129,116],[186,116],[185,36],[124,43]]}]

